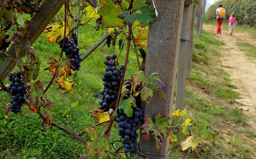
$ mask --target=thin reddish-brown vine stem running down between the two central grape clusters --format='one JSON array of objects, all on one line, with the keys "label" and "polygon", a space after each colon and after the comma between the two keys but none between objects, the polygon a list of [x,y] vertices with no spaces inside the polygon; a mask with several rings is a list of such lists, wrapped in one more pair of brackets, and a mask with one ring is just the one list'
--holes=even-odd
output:
[{"label": "thin reddish-brown vine stem running down between the two central grape clusters", "polygon": [[[123,75],[122,78],[120,80],[120,84],[119,84],[119,89],[118,89],[118,95],[117,95],[117,103],[115,103],[115,111],[117,110],[117,107],[119,105],[119,101],[120,101],[120,97],[121,97],[121,91],[122,91],[122,85],[124,82],[124,77],[126,74],[126,68],[127,68],[127,63],[128,63],[128,59],[129,59],[129,52],[130,52],[130,41],[131,41],[131,35],[132,35],[132,26],[129,26],[129,34],[127,36],[127,48],[126,48],[126,58],[124,61],[124,71],[123,71]],[[107,134],[108,132],[110,132],[111,126],[113,125],[114,122],[114,116],[111,114],[110,115],[110,124],[108,125],[107,130],[105,131],[105,134]]]}]

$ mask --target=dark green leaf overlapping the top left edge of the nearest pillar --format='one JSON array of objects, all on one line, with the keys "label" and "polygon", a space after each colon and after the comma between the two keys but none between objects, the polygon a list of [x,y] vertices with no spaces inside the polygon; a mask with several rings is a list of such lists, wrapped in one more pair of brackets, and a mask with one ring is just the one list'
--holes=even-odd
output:
[{"label": "dark green leaf overlapping the top left edge of the nearest pillar", "polygon": [[153,21],[155,19],[155,8],[154,7],[141,7],[139,9],[141,13],[137,13],[138,21],[140,21],[144,26],[148,25],[148,20]]}]

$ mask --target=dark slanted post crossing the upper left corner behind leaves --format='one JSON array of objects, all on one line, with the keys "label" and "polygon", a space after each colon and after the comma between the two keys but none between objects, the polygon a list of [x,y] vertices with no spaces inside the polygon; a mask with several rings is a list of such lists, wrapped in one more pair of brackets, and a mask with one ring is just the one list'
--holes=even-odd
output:
[{"label": "dark slanted post crossing the upper left corner behind leaves", "polygon": [[[30,36],[29,42],[33,44],[36,39],[42,34],[43,30],[50,23],[52,18],[57,14],[60,8],[65,3],[65,0],[45,0],[39,8],[39,12],[33,15],[30,21]],[[24,40],[21,40],[21,44],[24,43]],[[16,58],[15,47],[10,46],[7,51],[7,54],[11,55],[13,58]],[[5,77],[13,70],[16,62],[8,59],[0,63],[0,80],[4,80]]]}]

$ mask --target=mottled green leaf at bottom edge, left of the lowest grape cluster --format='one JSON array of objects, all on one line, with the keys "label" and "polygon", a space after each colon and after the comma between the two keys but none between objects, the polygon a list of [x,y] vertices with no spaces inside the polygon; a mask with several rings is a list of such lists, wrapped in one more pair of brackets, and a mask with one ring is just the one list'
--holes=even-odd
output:
[{"label": "mottled green leaf at bottom edge, left of the lowest grape cluster", "polygon": [[88,151],[80,156],[79,159],[95,157],[108,159],[108,153],[106,151],[110,151],[109,133],[107,135],[104,135],[99,141],[88,142],[86,144],[86,148],[88,149]]}]

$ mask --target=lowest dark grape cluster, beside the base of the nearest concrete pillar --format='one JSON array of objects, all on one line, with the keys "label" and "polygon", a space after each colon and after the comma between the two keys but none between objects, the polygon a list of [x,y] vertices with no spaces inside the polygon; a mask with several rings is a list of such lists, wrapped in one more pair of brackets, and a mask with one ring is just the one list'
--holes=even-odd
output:
[{"label": "lowest dark grape cluster, beside the base of the nearest concrete pillar", "polygon": [[133,107],[132,117],[128,117],[122,109],[117,110],[118,117],[115,118],[115,122],[118,123],[118,135],[122,138],[122,147],[124,152],[129,153],[134,157],[138,153],[136,133],[139,128],[139,123],[143,120],[142,110],[138,107]]}]

